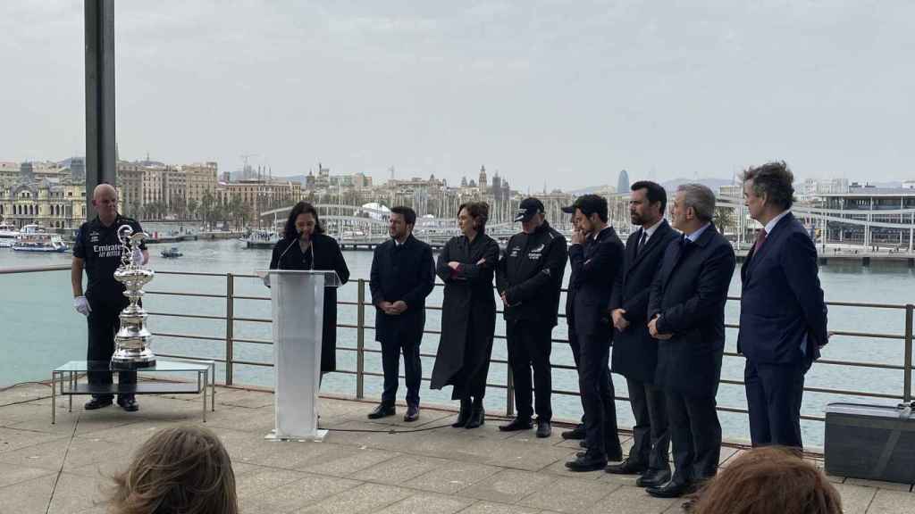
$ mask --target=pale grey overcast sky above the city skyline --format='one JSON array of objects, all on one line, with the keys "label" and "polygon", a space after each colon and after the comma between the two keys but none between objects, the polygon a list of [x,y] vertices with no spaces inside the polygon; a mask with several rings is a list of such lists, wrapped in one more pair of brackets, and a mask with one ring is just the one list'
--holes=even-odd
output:
[{"label": "pale grey overcast sky above the city skyline", "polygon": [[[115,3],[120,156],[512,187],[915,178],[915,2]],[[0,160],[83,155],[81,0],[0,3]]]}]

